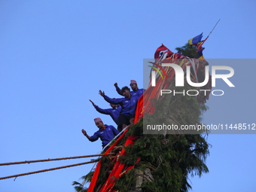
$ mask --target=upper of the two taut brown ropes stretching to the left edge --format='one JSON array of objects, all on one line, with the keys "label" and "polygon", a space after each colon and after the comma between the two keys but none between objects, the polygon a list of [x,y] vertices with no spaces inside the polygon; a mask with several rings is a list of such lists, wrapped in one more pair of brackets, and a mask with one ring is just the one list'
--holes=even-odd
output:
[{"label": "upper of the two taut brown ropes stretching to the left edge", "polygon": [[[114,154],[114,153],[112,153],[112,154]],[[78,159],[78,158],[84,158],[84,157],[97,157],[97,156],[103,156],[103,155],[104,154],[92,154],[92,155],[84,155],[84,156],[76,156],[76,157],[63,157],[63,158],[47,159],[47,160],[25,160],[25,161],[12,162],[12,163],[0,163],[0,166],[9,166],[9,165],[16,165],[16,164],[23,164],[23,163],[38,163],[38,162],[51,161],[51,160],[70,160],[70,159]]]}]

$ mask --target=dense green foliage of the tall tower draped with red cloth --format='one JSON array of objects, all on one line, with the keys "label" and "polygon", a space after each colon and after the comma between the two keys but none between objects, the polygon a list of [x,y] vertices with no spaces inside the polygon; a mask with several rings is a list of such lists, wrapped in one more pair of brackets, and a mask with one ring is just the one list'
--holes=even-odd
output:
[{"label": "dense green foliage of the tall tower draped with red cloth", "polygon": [[[186,56],[197,53],[187,44],[180,47],[178,51]],[[184,62],[184,60],[178,62]],[[173,86],[174,83],[172,83]],[[184,92],[191,89],[197,90],[186,83],[182,89]],[[178,87],[175,87],[175,90],[181,91]],[[206,131],[197,131],[197,134],[194,134],[194,131],[190,132],[191,134],[178,131],[143,134],[143,123],[173,123],[178,126],[201,124],[203,112],[207,110],[207,106],[201,101],[202,99],[198,99],[197,96],[182,94],[162,96],[152,101],[154,114],[144,114],[143,119],[130,127],[126,135],[120,139],[118,145],[124,148],[125,154],[120,157],[101,158],[99,176],[93,191],[102,191],[101,188],[108,180],[117,159],[124,164],[124,168],[118,178],[111,178],[114,187],[109,191],[185,192],[190,190],[189,176],[201,176],[209,172],[206,157],[209,155],[211,145],[207,142]],[[133,145],[124,147],[126,139],[131,136],[134,139]],[[133,169],[127,169],[131,166],[134,166]],[[92,176],[93,172],[89,172],[84,176],[85,181],[90,182]],[[77,191],[87,191],[87,188],[82,187],[80,183],[75,181],[73,184]]]}]

